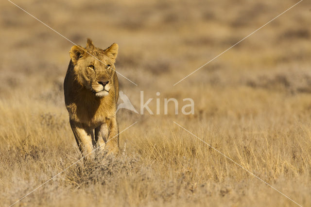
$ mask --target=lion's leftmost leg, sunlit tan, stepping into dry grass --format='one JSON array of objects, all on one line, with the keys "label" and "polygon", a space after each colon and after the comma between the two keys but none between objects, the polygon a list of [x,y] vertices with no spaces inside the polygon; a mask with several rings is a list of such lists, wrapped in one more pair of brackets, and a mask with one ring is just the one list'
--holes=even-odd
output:
[{"label": "lion's leftmost leg, sunlit tan, stepping into dry grass", "polygon": [[93,157],[94,155],[89,155],[93,151],[92,140],[94,139],[93,129],[86,126],[85,124],[78,123],[75,121],[70,121],[70,126],[73,135],[77,141],[78,147],[85,159]]}]

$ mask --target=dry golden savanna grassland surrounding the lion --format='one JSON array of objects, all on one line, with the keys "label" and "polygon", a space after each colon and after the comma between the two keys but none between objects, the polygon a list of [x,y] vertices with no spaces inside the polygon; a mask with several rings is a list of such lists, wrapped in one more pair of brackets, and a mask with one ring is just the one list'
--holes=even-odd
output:
[{"label": "dry golden savanna grassland surrounding the lion", "polygon": [[[70,167],[16,206],[311,206],[311,3],[302,1],[184,81],[295,0],[14,1],[73,42],[120,46],[117,158]],[[0,206],[81,155],[63,101],[70,42],[0,3]],[[179,100],[164,115],[164,98]],[[192,98],[194,115],[182,115]]]}]

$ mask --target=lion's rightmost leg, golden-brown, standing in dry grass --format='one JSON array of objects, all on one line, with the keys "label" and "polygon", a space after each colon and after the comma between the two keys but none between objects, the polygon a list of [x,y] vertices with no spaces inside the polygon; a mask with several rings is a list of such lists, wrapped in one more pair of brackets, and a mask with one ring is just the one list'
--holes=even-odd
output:
[{"label": "lion's rightmost leg, golden-brown, standing in dry grass", "polygon": [[119,125],[116,117],[107,119],[108,138],[105,141],[105,151],[108,154],[117,155],[119,153]]}]

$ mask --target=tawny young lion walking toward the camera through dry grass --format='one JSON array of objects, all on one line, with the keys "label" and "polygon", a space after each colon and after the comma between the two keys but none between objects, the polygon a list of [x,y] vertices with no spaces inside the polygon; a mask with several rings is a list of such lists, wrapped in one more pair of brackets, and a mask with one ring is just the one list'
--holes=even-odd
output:
[{"label": "tawny young lion walking toward the camera through dry grass", "polygon": [[79,150],[84,157],[101,146],[104,153],[119,152],[116,110],[119,82],[115,71],[118,44],[105,50],[87,39],[86,48],[72,46],[64,80],[65,104]]}]

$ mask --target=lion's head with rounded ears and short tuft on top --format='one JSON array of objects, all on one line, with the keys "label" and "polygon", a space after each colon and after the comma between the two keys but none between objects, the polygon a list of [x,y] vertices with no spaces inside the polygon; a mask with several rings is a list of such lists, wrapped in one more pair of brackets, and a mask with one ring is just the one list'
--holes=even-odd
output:
[{"label": "lion's head with rounded ears and short tuft on top", "polygon": [[86,48],[73,46],[69,52],[76,80],[81,86],[92,91],[97,97],[109,94],[114,63],[118,54],[118,44],[113,43],[105,50],[96,48],[92,40],[87,39]]}]

